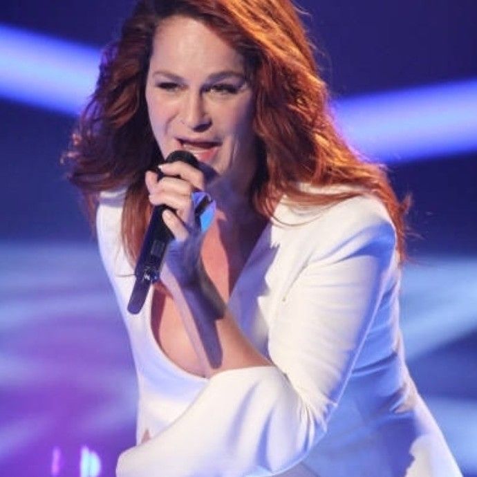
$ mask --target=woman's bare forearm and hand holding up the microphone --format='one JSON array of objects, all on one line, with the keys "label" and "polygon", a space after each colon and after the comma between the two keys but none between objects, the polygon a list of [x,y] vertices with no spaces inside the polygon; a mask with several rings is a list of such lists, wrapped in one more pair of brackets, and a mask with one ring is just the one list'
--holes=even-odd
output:
[{"label": "woman's bare forearm and hand holding up the microphone", "polygon": [[155,174],[146,176],[151,202],[176,210],[162,215],[176,240],[169,245],[160,278],[174,298],[203,375],[271,366],[237,326],[200,258],[203,232],[196,224],[191,193],[205,188],[202,172],[180,161],[163,165],[162,171],[168,176],[159,183]]}]

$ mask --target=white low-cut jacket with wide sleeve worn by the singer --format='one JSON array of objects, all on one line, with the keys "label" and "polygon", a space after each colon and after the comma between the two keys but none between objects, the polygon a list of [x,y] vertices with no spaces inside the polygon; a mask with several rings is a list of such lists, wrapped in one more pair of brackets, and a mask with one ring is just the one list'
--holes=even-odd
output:
[{"label": "white low-cut jacket with wide sleeve worn by the singer", "polygon": [[122,200],[102,194],[97,232],[138,375],[136,438],[151,440],[122,453],[118,477],[462,476],[404,363],[395,230],[378,200],[279,204],[286,225],[265,227],[228,303],[275,366],[211,379],[160,350],[152,290],[127,312]]}]

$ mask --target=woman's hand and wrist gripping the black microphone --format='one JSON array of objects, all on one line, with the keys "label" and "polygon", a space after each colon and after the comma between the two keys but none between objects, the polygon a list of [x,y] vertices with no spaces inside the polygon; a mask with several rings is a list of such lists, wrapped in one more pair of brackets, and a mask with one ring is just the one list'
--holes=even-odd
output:
[{"label": "woman's hand and wrist gripping the black microphone", "polygon": [[151,204],[167,205],[176,211],[162,213],[174,241],[169,244],[160,274],[162,283],[174,294],[174,287],[194,283],[203,272],[203,231],[196,221],[192,194],[204,190],[205,178],[202,171],[183,161],[165,163],[160,169],[165,177],[157,180],[158,175],[148,171],[145,181]]}]

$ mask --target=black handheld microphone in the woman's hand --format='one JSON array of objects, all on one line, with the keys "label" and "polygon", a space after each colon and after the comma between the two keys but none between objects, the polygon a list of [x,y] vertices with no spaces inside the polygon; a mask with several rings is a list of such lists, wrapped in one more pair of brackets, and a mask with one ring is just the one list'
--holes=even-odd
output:
[{"label": "black handheld microphone in the woman's hand", "polygon": [[[198,160],[189,151],[171,152],[165,162],[175,162],[176,160],[182,160],[192,167],[198,168]],[[162,220],[162,212],[166,209],[172,210],[167,205],[153,207],[151,220],[144,235],[138,263],[134,270],[135,283],[127,306],[127,310],[133,315],[137,315],[142,309],[151,283],[158,281],[167,245],[174,238]],[[173,210],[173,212],[175,211]]]}]

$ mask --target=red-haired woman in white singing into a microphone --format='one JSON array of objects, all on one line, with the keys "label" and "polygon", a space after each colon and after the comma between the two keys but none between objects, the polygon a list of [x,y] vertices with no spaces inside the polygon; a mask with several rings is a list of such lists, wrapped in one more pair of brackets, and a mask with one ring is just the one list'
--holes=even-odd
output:
[{"label": "red-haired woman in white singing into a microphone", "polygon": [[[405,207],[326,102],[288,0],[140,0],[106,50],[67,156],[138,373],[118,476],[460,475],[404,364]],[[135,317],[153,205],[175,240]]]}]

